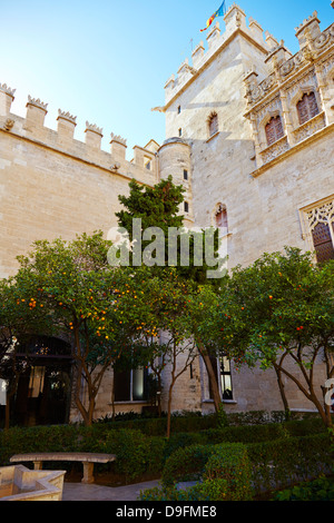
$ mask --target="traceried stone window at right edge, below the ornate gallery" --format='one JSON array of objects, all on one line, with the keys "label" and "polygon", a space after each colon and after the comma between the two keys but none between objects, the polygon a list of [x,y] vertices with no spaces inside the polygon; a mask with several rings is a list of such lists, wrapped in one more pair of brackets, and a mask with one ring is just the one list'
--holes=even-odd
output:
[{"label": "traceried stone window at right edge, below the ornate gallery", "polygon": [[334,200],[307,213],[318,264],[334,259]]}]

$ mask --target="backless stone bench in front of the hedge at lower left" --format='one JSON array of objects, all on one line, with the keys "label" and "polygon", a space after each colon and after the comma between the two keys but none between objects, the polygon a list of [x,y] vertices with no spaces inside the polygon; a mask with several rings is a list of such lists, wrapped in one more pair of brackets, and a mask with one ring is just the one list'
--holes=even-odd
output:
[{"label": "backless stone bench in front of the hedge at lower left", "polygon": [[10,458],[10,462],[33,462],[36,471],[42,470],[43,462],[81,462],[84,465],[82,483],[94,483],[94,464],[109,463],[115,460],[115,454],[95,454],[90,452],[37,452],[31,454],[16,454]]}]

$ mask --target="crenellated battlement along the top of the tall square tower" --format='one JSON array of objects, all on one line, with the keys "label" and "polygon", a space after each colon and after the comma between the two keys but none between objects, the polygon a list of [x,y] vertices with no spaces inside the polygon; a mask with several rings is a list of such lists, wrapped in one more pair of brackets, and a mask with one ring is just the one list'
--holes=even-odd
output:
[{"label": "crenellated battlement along the top of the tall square tower", "polygon": [[224,32],[222,32],[218,21],[210,28],[206,37],[207,50],[205,50],[202,40],[191,52],[191,63],[189,63],[189,58],[186,58],[180,65],[177,76],[169,77],[165,83],[165,109],[185,86],[210,63],[216,53],[240,31],[263,52],[264,58],[278,46],[277,40],[267,31],[264,33],[261,24],[253,18],[249,18],[247,26],[246,14],[236,3],[230,6],[224,16]]}]

